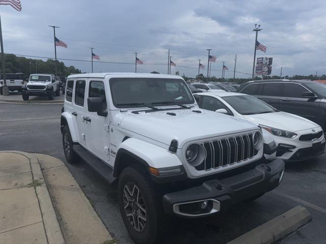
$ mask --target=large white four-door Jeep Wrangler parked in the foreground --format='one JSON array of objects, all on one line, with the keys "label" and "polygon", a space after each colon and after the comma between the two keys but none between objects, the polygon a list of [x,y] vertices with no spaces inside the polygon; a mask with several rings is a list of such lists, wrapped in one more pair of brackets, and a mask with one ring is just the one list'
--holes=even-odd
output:
[{"label": "large white four-door Jeep Wrangler parked in the foreground", "polygon": [[121,216],[136,243],[155,242],[168,215],[217,214],[283,177],[282,160],[263,158],[259,127],[199,109],[179,76],[71,75],[62,110],[68,163],[79,156],[119,181]]}]

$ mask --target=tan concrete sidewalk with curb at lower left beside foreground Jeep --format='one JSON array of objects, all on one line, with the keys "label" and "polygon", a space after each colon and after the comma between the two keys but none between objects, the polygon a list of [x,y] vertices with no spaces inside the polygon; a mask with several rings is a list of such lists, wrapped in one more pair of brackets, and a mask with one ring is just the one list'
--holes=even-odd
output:
[{"label": "tan concrete sidewalk with curb at lower left beside foreground Jeep", "polygon": [[0,151],[0,244],[5,243],[117,242],[62,161]]}]

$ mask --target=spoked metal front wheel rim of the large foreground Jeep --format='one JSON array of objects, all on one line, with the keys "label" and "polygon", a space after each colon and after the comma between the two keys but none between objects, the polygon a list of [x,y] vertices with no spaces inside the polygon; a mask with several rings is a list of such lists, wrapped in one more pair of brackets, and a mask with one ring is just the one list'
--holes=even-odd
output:
[{"label": "spoked metal front wheel rim of the large foreground Jeep", "polygon": [[127,182],[123,188],[123,207],[131,226],[138,232],[146,228],[146,205],[143,195],[133,182]]}]

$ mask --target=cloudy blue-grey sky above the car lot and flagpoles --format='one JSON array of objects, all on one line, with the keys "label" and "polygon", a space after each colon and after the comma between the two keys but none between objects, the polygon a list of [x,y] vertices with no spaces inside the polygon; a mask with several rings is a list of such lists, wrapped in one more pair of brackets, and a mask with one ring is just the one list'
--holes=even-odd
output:
[{"label": "cloudy blue-grey sky above the car lot and flagpoles", "polygon": [[[273,57],[272,75],[325,74],[326,3],[315,1],[214,1],[214,0],[21,0],[22,11],[0,6],[5,52],[54,57],[53,31],[68,44],[58,47],[58,58],[90,60],[90,49],[103,62],[94,63],[94,72],[134,72],[134,52],[144,61],[138,72],[167,73],[168,49],[179,71],[186,76],[198,73],[198,59],[207,68],[207,48],[218,57],[211,75],[221,77],[222,62],[233,77],[252,73],[255,23],[263,30],[258,41]],[[66,61],[83,72],[90,62]],[[201,73],[206,73],[202,70]],[[248,73],[248,74],[246,74]]]}]

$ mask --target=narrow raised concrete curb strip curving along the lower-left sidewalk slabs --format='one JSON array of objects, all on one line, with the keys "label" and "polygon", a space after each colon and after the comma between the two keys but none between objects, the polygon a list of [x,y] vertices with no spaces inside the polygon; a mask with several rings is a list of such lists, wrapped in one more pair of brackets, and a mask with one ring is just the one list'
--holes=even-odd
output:
[{"label": "narrow raised concrete curb strip curving along the lower-left sidewalk slabs", "polygon": [[[30,160],[33,179],[40,180],[45,183],[41,166],[37,157],[33,154],[24,153],[22,151],[2,151],[3,153],[16,153],[25,156]],[[42,184],[35,188],[35,192],[39,201],[40,209],[42,212],[42,219],[45,228],[45,234],[49,244],[64,244],[65,240],[61,232],[59,222],[57,220],[55,209],[53,208],[52,201],[46,187],[46,184]]]}]

